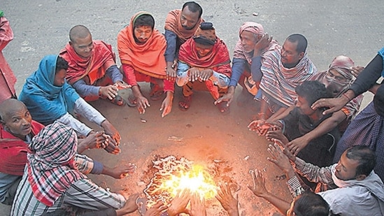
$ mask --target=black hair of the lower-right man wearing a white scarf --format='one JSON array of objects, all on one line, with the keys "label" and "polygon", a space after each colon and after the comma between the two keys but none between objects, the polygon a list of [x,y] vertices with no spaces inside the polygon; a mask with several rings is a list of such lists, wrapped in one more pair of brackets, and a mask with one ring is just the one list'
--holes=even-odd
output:
[{"label": "black hair of the lower-right man wearing a white scarf", "polygon": [[359,165],[356,168],[357,175],[369,175],[376,166],[375,152],[365,145],[355,145],[348,147],[346,150],[346,157],[359,161]]}]

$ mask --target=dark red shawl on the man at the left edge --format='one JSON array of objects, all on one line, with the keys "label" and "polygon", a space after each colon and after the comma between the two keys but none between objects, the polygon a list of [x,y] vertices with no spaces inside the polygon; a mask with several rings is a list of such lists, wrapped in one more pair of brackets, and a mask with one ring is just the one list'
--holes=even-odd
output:
[{"label": "dark red shawl on the man at the left edge", "polygon": [[[36,136],[36,134],[44,128],[44,125],[32,120],[31,128],[32,136]],[[24,166],[27,164],[27,151],[27,143],[22,141],[22,139],[13,136],[0,125],[1,173],[22,175],[24,173]]]}]

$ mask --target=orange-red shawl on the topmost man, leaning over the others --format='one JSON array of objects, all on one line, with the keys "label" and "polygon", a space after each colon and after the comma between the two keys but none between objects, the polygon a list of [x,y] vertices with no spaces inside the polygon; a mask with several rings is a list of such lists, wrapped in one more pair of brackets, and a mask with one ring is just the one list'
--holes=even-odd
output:
[{"label": "orange-red shawl on the topmost man, leaning over the others", "polygon": [[193,29],[187,30],[181,26],[181,10],[171,10],[166,16],[164,29],[174,32],[181,43],[184,43],[194,34],[194,31],[199,27],[203,19],[200,18],[199,22],[194,26]]}]

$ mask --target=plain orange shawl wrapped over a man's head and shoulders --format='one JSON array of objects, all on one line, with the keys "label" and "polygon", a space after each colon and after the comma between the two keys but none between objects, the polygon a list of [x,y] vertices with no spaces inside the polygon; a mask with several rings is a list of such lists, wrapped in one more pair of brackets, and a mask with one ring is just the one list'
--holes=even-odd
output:
[{"label": "plain orange shawl wrapped over a man's head and shoulders", "polygon": [[122,29],[118,34],[118,50],[122,64],[128,64],[135,71],[144,73],[153,78],[165,79],[166,62],[165,49],[166,41],[163,34],[157,29],[153,29],[148,41],[142,45],[136,43],[134,39],[134,22],[141,15],[150,15],[147,12],[138,12],[133,17],[129,25]]}]

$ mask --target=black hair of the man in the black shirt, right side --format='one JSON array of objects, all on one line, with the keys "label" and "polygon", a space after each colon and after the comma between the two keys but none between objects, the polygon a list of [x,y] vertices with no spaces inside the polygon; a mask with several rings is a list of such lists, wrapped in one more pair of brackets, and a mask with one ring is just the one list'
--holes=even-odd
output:
[{"label": "black hair of the man in the black shirt, right side", "polygon": [[330,97],[325,85],[318,80],[304,81],[296,87],[296,93],[298,96],[304,97],[310,106],[318,99]]}]

